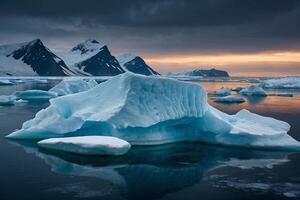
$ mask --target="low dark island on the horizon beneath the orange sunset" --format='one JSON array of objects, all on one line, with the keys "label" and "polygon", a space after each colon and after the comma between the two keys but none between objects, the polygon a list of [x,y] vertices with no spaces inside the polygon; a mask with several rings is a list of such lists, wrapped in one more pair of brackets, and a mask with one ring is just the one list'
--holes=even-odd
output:
[{"label": "low dark island on the horizon beneath the orange sunset", "polygon": [[228,72],[218,69],[195,69],[191,71],[169,73],[169,75],[203,76],[203,77],[229,77]]}]

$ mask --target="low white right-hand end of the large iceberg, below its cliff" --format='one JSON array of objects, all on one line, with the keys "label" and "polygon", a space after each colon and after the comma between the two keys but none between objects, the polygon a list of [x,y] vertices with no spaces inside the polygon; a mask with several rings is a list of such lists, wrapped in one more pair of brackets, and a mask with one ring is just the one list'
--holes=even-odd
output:
[{"label": "low white right-hand end of the large iceberg, below its cliff", "polygon": [[248,110],[228,115],[210,106],[203,117],[203,141],[230,146],[300,150],[300,143],[287,134],[290,125]]}]

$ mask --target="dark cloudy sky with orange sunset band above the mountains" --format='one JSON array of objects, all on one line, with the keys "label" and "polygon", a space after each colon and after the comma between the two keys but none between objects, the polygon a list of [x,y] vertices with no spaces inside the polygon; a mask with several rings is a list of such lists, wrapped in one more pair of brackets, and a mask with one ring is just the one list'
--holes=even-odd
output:
[{"label": "dark cloudy sky with orange sunset band above the mountains", "polygon": [[0,43],[41,38],[66,51],[87,38],[164,73],[300,75],[299,0],[1,0]]}]

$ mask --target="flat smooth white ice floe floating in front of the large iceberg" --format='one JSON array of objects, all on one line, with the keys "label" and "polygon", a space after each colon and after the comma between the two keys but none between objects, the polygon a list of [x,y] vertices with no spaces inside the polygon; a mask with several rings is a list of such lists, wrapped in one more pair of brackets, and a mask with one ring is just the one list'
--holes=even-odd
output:
[{"label": "flat smooth white ice floe floating in front of the large iceberg", "polygon": [[38,142],[43,148],[84,155],[123,155],[130,149],[124,140],[109,136],[51,138]]}]

